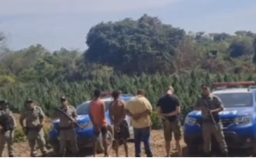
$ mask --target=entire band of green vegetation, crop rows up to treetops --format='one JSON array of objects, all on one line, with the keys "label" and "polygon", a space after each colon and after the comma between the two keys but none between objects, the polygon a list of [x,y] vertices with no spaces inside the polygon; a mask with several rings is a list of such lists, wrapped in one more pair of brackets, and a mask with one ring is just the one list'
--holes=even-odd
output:
[{"label": "entire band of green vegetation, crop rows up to treetops", "polygon": [[16,112],[32,98],[50,115],[60,96],[77,106],[95,88],[143,88],[155,105],[173,85],[186,113],[205,81],[256,80],[255,38],[250,31],[185,32],[147,15],[97,24],[87,34],[85,51],[51,52],[40,44],[13,51],[0,34],[0,98]]}]

